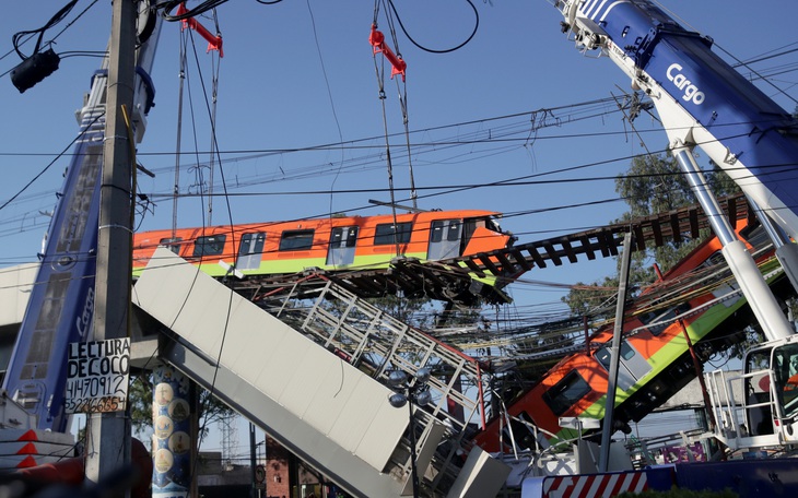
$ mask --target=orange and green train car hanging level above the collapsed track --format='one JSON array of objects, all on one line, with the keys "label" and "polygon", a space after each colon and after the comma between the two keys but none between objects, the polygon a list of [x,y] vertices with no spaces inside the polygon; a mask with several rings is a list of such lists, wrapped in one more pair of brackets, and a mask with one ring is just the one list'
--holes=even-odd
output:
[{"label": "orange and green train car hanging level above the collapsed track", "polygon": [[133,237],[133,275],[159,246],[212,276],[231,266],[244,275],[280,275],[385,269],[397,256],[439,261],[508,247],[514,238],[498,217],[492,211],[430,211],[143,232]]}]

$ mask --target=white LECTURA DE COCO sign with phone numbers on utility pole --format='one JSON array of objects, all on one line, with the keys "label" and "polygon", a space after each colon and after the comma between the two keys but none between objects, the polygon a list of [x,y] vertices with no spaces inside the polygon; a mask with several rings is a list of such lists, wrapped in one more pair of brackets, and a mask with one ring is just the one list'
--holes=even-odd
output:
[{"label": "white LECTURA DE COCO sign with phone numbers on utility pole", "polygon": [[125,410],[130,339],[70,343],[67,359],[67,413]]}]

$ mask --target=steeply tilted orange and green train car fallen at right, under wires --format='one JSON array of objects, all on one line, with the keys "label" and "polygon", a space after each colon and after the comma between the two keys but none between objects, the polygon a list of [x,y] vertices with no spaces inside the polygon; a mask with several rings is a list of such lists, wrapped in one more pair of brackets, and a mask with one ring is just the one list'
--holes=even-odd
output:
[{"label": "steeply tilted orange and green train car fallen at right, under wires", "polygon": [[[746,221],[738,223],[737,233],[749,250],[765,241],[761,227],[748,227]],[[715,272],[723,268],[718,264],[724,261],[720,249],[717,238],[706,240],[627,308],[615,394],[617,428],[627,428],[629,422],[639,420],[696,377],[685,332],[694,351],[705,358],[739,341],[738,332],[751,323],[744,297],[740,293],[729,294],[737,288],[734,278],[727,278],[728,272]],[[772,250],[761,251],[756,262],[763,272],[779,268]],[[768,280],[771,288],[786,281],[781,278],[781,272],[776,273]],[[696,278],[696,274],[703,277]],[[691,277],[692,286],[679,285]],[[662,293],[669,285],[680,290]],[[574,429],[562,428],[560,417],[596,418],[603,423],[612,334],[613,324],[605,325],[590,336],[589,346],[560,360],[531,389],[508,403],[511,417],[544,429],[550,442],[578,436]],[[521,449],[535,448],[529,425],[516,420],[512,425],[516,444]],[[474,443],[490,452],[509,451],[509,436],[500,417],[494,417],[476,436]]]}]

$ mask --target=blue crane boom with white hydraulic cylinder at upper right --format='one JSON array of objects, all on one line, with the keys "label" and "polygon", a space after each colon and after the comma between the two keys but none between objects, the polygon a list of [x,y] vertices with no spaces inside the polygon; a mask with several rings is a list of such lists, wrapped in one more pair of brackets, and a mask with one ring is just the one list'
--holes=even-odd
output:
[{"label": "blue crane boom with white hydraulic cylinder at upper right", "polygon": [[692,150],[701,147],[759,208],[798,239],[798,121],[726,63],[712,40],[680,26],[649,0],[561,0],[562,28],[585,52],[599,50],[645,92],[768,340],[793,328],[744,245],[719,216]]}]

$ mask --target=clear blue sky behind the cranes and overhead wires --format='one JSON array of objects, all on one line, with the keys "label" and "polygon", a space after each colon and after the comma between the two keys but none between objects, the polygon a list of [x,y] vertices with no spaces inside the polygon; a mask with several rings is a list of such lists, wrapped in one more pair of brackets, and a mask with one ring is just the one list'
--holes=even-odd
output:
[{"label": "clear blue sky behind the cranes and overhead wires", "polygon": [[[0,17],[0,56],[4,55],[0,73],[19,63],[12,35],[44,25],[63,3],[66,0],[38,0],[7,5],[5,15]],[[474,13],[462,0],[396,3],[410,36],[426,48],[455,47],[474,27]],[[794,28],[798,7],[794,0],[772,0],[766,7],[740,0],[661,3],[684,25],[712,36],[717,47],[740,60],[798,48]],[[44,39],[51,39],[90,4],[92,0],[79,1],[67,21],[48,31]],[[188,52],[181,138],[183,152],[188,154],[181,162],[180,191],[196,191],[195,165],[210,161],[208,154],[195,156],[192,151],[211,149],[204,94],[211,87],[215,64],[216,143],[222,151],[226,189],[249,195],[231,198],[230,210],[216,198],[214,224],[329,212],[385,212],[362,210],[368,199],[389,198],[379,190],[388,187],[384,119],[392,134],[396,198],[406,199],[409,164],[397,98],[400,91],[407,91],[409,129],[413,132],[410,164],[420,189],[420,208],[508,213],[503,226],[516,233],[521,242],[591,228],[618,217],[625,205],[611,202],[618,198],[614,183],[599,178],[625,170],[629,157],[644,149],[641,139],[613,112],[613,104],[586,103],[629,92],[626,78],[609,59],[580,55],[560,33],[560,13],[547,1],[474,0],[473,4],[479,12],[477,33],[453,52],[424,51],[397,26],[398,51],[408,64],[407,82],[398,88],[396,81],[386,76],[384,102],[378,98],[375,59],[368,45],[373,2],[284,0],[262,5],[254,0],[234,0],[221,5],[218,22],[224,58],[206,54],[206,43],[197,36],[192,45],[196,55],[192,48]],[[377,20],[388,44],[397,50],[384,9]],[[212,19],[201,22],[215,31]],[[54,48],[58,52],[103,50],[109,23],[110,2],[95,2],[58,36]],[[172,201],[165,194],[174,183],[178,47],[179,26],[167,23],[152,73],[156,106],[138,149],[139,161],[157,174],[152,180],[141,178],[140,191],[156,205],[137,220],[140,229],[172,226]],[[32,48],[28,43],[22,50],[30,55]],[[798,55],[793,52],[754,68],[785,71],[773,81],[795,98],[796,61]],[[382,58],[377,63],[382,64]],[[55,191],[68,164],[67,157],[57,156],[78,132],[74,111],[82,105],[98,66],[97,58],[64,57],[57,72],[24,94],[12,86],[8,75],[0,80],[0,204],[52,162],[20,200],[0,210],[0,265],[35,260],[47,223],[39,212],[52,210]],[[776,95],[772,87],[766,92],[785,109],[795,108],[794,100]],[[662,149],[666,138],[656,122],[642,117],[635,124],[649,130],[643,134],[649,150]],[[343,147],[307,151],[341,142]],[[531,175],[538,177],[527,178]],[[214,192],[224,189],[220,177],[216,171]],[[562,183],[484,186],[519,178]],[[459,188],[462,186],[471,187]],[[330,190],[348,192],[330,194]],[[427,194],[435,195],[423,197]],[[596,204],[599,201],[608,202]],[[587,205],[568,208],[583,203]],[[525,212],[530,213],[517,214]],[[196,198],[181,200],[178,225],[199,226],[207,216],[203,213],[206,209]],[[516,309],[548,309],[563,294],[551,283],[592,282],[613,269],[614,263],[607,260],[536,271],[526,276],[538,283],[514,285],[511,293]],[[242,440],[245,438],[243,432]]]}]

